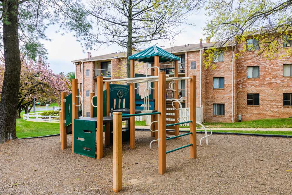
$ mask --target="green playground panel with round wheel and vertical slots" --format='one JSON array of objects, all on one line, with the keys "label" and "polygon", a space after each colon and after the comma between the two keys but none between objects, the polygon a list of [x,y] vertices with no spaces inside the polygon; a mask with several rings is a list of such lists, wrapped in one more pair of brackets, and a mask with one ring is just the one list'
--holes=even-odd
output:
[{"label": "green playground panel with round wheel and vertical slots", "polygon": [[[114,101],[116,99],[116,101]],[[125,106],[124,106],[125,100]],[[120,101],[120,106],[119,106]],[[115,102],[115,103],[114,103]],[[115,104],[115,105],[114,105]],[[130,108],[130,86],[121,84],[109,85],[109,109]]]}]

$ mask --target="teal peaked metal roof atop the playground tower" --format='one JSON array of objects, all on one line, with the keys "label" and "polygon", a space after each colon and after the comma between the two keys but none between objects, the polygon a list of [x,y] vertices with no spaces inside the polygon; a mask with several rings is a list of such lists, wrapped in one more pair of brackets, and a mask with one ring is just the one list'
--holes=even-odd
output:
[{"label": "teal peaked metal roof atop the playground tower", "polygon": [[162,62],[172,62],[175,60],[180,60],[179,57],[153,45],[143,51],[138,52],[137,54],[133,54],[129,56],[129,59],[134,59],[135,61],[145,62],[145,63],[154,63],[154,56],[159,56],[159,63]]}]

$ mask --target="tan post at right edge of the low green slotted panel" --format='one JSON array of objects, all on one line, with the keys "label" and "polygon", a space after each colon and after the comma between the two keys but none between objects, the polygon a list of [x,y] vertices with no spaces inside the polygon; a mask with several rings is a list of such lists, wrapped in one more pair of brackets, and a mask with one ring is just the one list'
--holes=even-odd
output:
[{"label": "tan post at right edge of the low green slotted panel", "polygon": [[96,114],[96,158],[101,159],[102,158],[102,76],[97,77],[97,114]]}]

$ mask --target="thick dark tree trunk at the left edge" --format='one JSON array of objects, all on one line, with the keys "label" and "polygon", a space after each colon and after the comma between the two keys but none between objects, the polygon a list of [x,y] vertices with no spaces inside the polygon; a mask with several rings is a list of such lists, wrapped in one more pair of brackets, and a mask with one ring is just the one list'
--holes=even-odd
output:
[{"label": "thick dark tree trunk at the left edge", "polygon": [[0,101],[0,143],[15,139],[15,125],[20,82],[18,40],[18,0],[2,1],[5,72]]}]

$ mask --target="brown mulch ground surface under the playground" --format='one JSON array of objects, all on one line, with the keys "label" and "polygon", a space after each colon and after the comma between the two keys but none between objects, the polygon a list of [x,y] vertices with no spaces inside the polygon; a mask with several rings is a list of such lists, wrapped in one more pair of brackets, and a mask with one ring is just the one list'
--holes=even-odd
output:
[{"label": "brown mulch ground surface under the playground", "polygon": [[[71,139],[63,151],[57,136],[0,144],[0,194],[114,194],[112,146],[98,160],[72,154]],[[164,175],[151,140],[136,131],[136,149],[123,143],[119,194],[292,194],[292,139],[215,134],[197,146],[197,159],[189,148],[167,154]],[[168,140],[166,150],[188,143]]]}]

